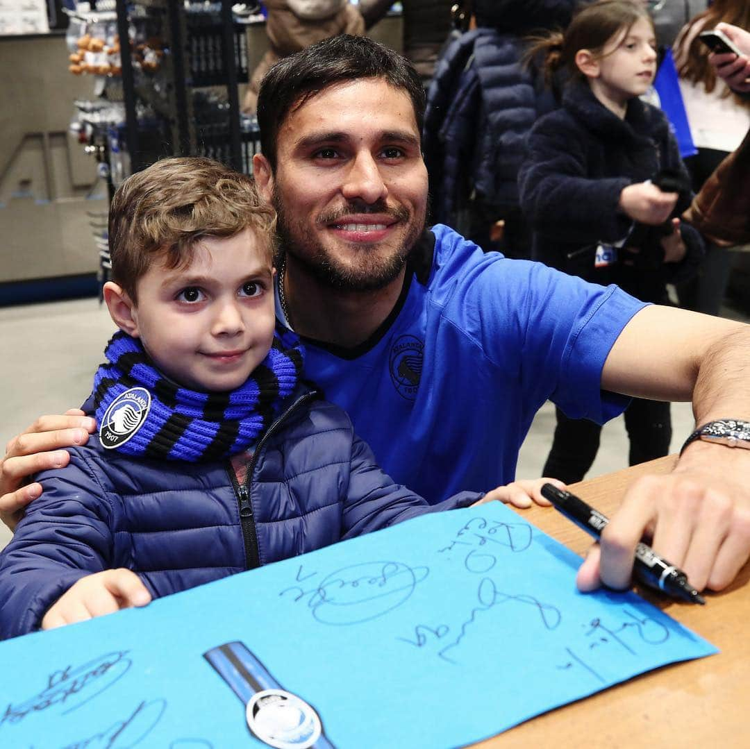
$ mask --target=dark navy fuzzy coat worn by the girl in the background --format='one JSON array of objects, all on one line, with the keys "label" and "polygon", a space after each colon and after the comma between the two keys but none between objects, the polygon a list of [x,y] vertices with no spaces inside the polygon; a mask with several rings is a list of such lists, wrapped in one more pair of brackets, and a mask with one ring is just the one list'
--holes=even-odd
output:
[{"label": "dark navy fuzzy coat worn by the girl in the background", "polygon": [[[623,188],[653,179],[662,169],[679,173],[689,184],[660,109],[634,98],[622,120],[585,82],[571,82],[562,109],[541,118],[529,134],[518,176],[521,207],[534,229],[534,259],[595,283],[618,283],[643,301],[663,301],[667,280],[688,277],[703,258],[703,240],[688,224],[681,224],[687,252],[680,263],[661,263],[652,270],[594,265],[597,245],[622,241],[633,226],[618,208]],[[689,199],[678,204],[678,212]],[[658,241],[652,232],[639,249],[658,253]]]}]

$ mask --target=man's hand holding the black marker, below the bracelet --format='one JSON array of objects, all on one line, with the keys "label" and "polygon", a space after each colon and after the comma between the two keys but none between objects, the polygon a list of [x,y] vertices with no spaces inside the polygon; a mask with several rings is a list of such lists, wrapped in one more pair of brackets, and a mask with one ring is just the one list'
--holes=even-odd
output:
[{"label": "man's hand holding the black marker, below the bracelet", "polygon": [[697,590],[722,590],[750,558],[750,451],[694,442],[672,473],[632,484],[577,575],[581,590],[630,586],[646,538]]}]

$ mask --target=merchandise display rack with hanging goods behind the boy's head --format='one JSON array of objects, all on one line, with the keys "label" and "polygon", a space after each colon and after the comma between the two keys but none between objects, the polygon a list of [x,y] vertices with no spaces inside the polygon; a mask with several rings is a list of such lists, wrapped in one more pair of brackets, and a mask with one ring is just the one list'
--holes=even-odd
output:
[{"label": "merchandise display rack with hanging goods behind the boy's head", "polygon": [[[252,172],[257,119],[239,109],[245,25],[260,17],[250,7],[237,16],[229,0],[92,0],[66,10],[69,70],[94,81],[92,100],[75,102],[71,130],[97,160],[110,201],[127,175],[167,156],[204,155]],[[111,268],[107,214],[89,214],[89,223],[101,299]]]}]

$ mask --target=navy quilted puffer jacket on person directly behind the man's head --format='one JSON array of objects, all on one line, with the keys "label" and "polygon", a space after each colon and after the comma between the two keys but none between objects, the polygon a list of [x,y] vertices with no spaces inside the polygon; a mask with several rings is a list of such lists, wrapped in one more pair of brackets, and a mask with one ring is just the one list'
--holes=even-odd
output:
[{"label": "navy quilted puffer jacket on person directly behind the man's head", "polygon": [[496,0],[492,14],[485,11],[485,27],[462,34],[443,52],[423,137],[434,220],[459,226],[469,198],[492,220],[517,211],[526,135],[556,106],[541,76],[523,64],[523,37],[564,23],[573,4]]}]

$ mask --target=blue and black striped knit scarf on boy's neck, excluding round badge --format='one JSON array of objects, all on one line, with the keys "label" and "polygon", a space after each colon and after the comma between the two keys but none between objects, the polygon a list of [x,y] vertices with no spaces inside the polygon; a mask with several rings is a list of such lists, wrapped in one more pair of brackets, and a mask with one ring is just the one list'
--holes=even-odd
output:
[{"label": "blue and black striped knit scarf on boy's neck, excluding round badge", "polygon": [[227,393],[181,388],[154,367],[139,340],[121,331],[104,353],[109,361],[94,377],[98,424],[104,423],[116,397],[130,388],[145,388],[151,394],[148,414],[115,449],[157,460],[220,460],[247,450],[278,415],[302,373],[299,338],[281,328],[247,382]]}]

